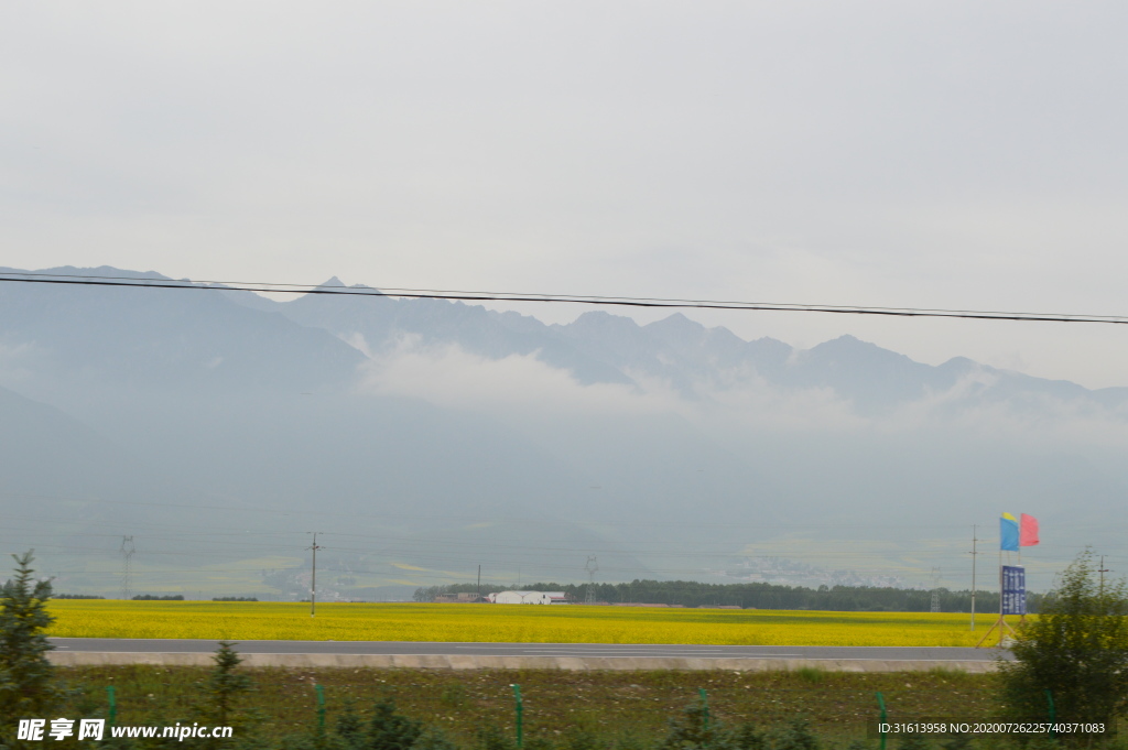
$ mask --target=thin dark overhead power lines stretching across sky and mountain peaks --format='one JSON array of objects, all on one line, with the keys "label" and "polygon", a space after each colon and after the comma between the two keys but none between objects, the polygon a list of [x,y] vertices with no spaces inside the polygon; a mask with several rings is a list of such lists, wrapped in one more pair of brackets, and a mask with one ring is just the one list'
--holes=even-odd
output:
[{"label": "thin dark overhead power lines stretching across sky and mountain peaks", "polygon": [[708,310],[748,310],[760,312],[826,312],[835,315],[875,315],[899,318],[964,318],[972,320],[1015,320],[1025,323],[1109,323],[1128,324],[1126,316],[1055,312],[1008,312],[1002,310],[957,310],[942,308],[895,308],[849,305],[807,305],[793,302],[748,302],[734,300],[689,300],[645,297],[600,297],[594,294],[539,294],[529,292],[477,292],[429,289],[374,289],[371,286],[315,286],[267,282],[193,282],[135,276],[79,276],[25,272],[0,273],[0,282],[70,284],[82,286],[133,286],[141,289],[195,289],[203,291],[243,291],[264,294],[336,294],[405,299],[450,300],[460,302],[571,302],[634,308],[698,308]]}]

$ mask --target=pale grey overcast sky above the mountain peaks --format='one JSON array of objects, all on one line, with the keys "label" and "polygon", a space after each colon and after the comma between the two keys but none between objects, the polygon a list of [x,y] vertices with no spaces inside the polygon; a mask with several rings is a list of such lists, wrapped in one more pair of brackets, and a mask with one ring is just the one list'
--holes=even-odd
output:
[{"label": "pale grey overcast sky above the mountain peaks", "polygon": [[[1128,315],[1126,35],[1113,2],[7,2],[0,265]],[[1128,326],[690,315],[1128,386]]]}]

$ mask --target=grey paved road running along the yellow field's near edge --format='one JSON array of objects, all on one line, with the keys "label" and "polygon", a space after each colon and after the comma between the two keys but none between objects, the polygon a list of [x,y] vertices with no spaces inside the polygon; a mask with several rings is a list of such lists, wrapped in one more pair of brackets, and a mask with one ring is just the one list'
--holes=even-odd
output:
[{"label": "grey paved road running along the yellow field's near edge", "polygon": [[[215,641],[178,638],[51,638],[59,651],[206,653]],[[603,643],[421,643],[407,641],[241,641],[248,654],[414,654],[443,656],[603,656],[632,659],[853,659],[865,661],[994,661],[995,648],[901,646],[693,646]],[[940,665],[940,664],[937,664]]]}]

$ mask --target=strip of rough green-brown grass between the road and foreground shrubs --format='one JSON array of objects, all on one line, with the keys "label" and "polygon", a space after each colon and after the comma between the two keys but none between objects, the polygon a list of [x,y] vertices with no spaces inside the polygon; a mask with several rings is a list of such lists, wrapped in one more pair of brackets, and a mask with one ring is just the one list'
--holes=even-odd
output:
[{"label": "strip of rough green-brown grass between the road and foreground shrubs", "polygon": [[[583,731],[599,747],[615,747],[631,735],[651,747],[671,717],[708,694],[715,721],[760,726],[808,717],[817,732],[845,743],[865,736],[864,722],[875,721],[874,692],[881,690],[895,721],[992,717],[996,678],[963,672],[846,673],[797,672],[565,672],[447,671],[380,669],[245,670],[257,686],[241,702],[258,712],[272,743],[309,732],[316,724],[315,685],[325,689],[328,725],[353,699],[367,712],[390,696],[403,713],[441,726],[459,747],[475,744],[476,731],[496,725],[513,729],[512,683],[525,696],[527,738],[567,747],[570,733]],[[120,724],[183,721],[199,699],[206,668],[155,665],[83,667],[60,670],[79,686],[90,705],[105,709],[105,688],[116,688]],[[273,747],[273,745],[272,745]],[[895,745],[890,745],[891,748]],[[990,747],[981,744],[980,747]],[[591,750],[596,750],[592,748]]]}]

